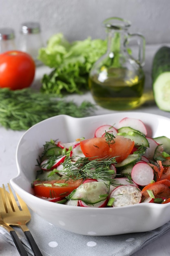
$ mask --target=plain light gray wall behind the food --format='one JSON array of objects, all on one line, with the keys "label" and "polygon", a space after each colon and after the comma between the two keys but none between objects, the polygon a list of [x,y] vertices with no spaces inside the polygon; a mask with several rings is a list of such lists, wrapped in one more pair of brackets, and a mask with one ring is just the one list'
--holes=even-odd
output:
[{"label": "plain light gray wall behind the food", "polygon": [[170,0],[0,0],[0,27],[15,29],[38,21],[44,43],[62,32],[70,41],[104,39],[105,18],[118,16],[132,22],[130,32],[140,32],[147,44],[170,43]]}]

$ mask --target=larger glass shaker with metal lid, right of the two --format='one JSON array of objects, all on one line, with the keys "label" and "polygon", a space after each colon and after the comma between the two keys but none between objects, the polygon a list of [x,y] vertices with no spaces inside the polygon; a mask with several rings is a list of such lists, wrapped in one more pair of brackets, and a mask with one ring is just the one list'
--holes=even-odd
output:
[{"label": "larger glass shaker with metal lid, right of the two", "polygon": [[24,22],[21,25],[19,49],[30,54],[35,61],[35,65],[41,65],[38,60],[38,50],[43,47],[41,29],[38,22]]}]

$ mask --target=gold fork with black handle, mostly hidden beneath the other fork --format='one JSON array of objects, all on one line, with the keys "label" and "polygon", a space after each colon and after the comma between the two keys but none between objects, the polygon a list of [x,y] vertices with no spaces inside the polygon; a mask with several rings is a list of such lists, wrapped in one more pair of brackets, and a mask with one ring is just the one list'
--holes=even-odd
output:
[{"label": "gold fork with black handle, mostly hidden beneath the other fork", "polygon": [[[0,192],[1,192],[2,188],[0,188]],[[4,202],[2,201],[2,198],[0,197],[0,208],[2,209],[2,205],[4,204]],[[17,247],[18,249],[18,252],[21,256],[28,256],[27,252],[26,252],[26,249],[24,248],[24,246],[22,245],[17,233],[15,232],[15,230],[10,226],[8,225],[7,223],[5,223],[3,220],[2,220],[2,217],[0,215],[0,226],[4,227],[8,232],[9,234],[11,235],[14,243],[15,243],[15,246]]]}]

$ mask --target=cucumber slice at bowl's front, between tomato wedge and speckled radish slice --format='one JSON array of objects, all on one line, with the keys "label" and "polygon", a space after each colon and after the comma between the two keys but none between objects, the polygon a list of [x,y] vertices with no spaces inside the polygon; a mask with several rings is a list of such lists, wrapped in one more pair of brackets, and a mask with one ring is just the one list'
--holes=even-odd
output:
[{"label": "cucumber slice at bowl's front, between tomato wedge and speckled radish slice", "polygon": [[109,181],[87,182],[81,184],[70,195],[69,200],[82,200],[86,204],[96,204],[108,197]]}]

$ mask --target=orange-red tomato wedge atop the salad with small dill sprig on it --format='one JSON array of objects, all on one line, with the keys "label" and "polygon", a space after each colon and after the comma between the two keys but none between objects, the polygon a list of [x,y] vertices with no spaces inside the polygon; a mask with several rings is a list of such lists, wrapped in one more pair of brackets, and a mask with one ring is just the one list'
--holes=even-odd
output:
[{"label": "orange-red tomato wedge atop the salad with small dill sprig on it", "polygon": [[121,162],[130,155],[134,141],[119,135],[108,144],[106,137],[99,137],[80,141],[80,147],[86,157],[116,157],[116,161]]}]

